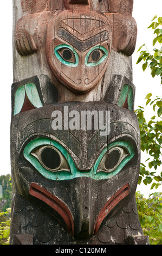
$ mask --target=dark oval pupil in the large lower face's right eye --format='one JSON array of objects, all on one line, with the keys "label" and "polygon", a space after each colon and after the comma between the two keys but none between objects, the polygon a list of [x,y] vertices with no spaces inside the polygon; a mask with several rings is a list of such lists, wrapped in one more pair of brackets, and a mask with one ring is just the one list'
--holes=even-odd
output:
[{"label": "dark oval pupil in the large lower face's right eye", "polygon": [[114,149],[111,151],[111,153],[108,154],[105,160],[105,167],[106,169],[110,170],[113,169],[116,164],[119,162],[120,159],[120,152],[117,149]]}]

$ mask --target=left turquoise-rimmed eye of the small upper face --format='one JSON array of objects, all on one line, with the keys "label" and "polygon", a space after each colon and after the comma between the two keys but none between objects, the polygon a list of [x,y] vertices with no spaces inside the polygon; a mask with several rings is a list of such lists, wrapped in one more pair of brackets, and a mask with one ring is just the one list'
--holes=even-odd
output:
[{"label": "left turquoise-rimmed eye of the small upper face", "polygon": [[64,65],[75,67],[79,64],[79,58],[78,58],[77,52],[70,45],[56,46],[55,56]]}]

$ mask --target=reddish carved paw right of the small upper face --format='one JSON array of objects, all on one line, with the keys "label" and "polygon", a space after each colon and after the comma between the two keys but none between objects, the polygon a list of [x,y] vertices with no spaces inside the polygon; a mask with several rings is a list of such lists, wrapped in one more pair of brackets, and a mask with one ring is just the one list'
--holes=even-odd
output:
[{"label": "reddish carved paw right of the small upper face", "polygon": [[112,48],[131,56],[137,40],[137,24],[132,17],[133,0],[107,0],[109,13],[106,14],[112,23]]}]

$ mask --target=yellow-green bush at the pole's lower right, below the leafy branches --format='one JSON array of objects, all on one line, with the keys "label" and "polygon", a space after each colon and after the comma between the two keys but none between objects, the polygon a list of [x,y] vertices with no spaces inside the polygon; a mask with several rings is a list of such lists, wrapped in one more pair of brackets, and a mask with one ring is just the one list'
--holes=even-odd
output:
[{"label": "yellow-green bush at the pole's lower right, below the leafy branches", "polygon": [[162,193],[151,194],[152,198],[145,199],[136,192],[139,220],[144,235],[150,237],[151,245],[162,244]]}]

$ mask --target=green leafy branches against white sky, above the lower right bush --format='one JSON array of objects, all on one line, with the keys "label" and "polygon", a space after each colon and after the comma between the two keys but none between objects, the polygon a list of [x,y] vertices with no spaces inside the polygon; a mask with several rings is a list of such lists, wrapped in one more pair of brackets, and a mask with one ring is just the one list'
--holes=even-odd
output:
[{"label": "green leafy branches against white sky, above the lower right bush", "polygon": [[[162,83],[162,17],[158,17],[155,15],[152,19],[152,23],[148,28],[152,28],[154,30],[154,34],[156,35],[153,39],[152,45],[158,43],[160,45],[158,48],[153,49],[153,54],[151,54],[147,47],[142,45],[141,48],[146,47],[145,51],[141,51],[139,58],[137,60],[137,64],[141,61],[144,61],[142,64],[142,69],[145,71],[147,66],[150,66],[151,75],[155,77],[155,75],[161,77]],[[148,65],[148,63],[150,63]],[[141,150],[146,151],[149,155],[148,159],[148,169],[153,168],[154,170],[150,172],[147,170],[146,165],[141,163],[140,167],[140,177],[139,184],[143,179],[145,185],[151,184],[151,189],[158,188],[162,183],[162,172],[158,175],[157,168],[161,167],[161,143],[162,143],[162,98],[160,96],[154,96],[154,99],[151,98],[152,94],[148,93],[146,95],[146,106],[152,105],[154,115],[147,122],[144,115],[144,107],[139,106],[139,109],[135,111],[139,121],[140,127],[140,136],[141,136]],[[155,171],[155,172],[154,172]]]}]

